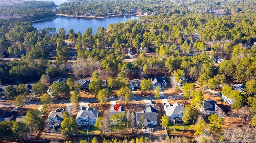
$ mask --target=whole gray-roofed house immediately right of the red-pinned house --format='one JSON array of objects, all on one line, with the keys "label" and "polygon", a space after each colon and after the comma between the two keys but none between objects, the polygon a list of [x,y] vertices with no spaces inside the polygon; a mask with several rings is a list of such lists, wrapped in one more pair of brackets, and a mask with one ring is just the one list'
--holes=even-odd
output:
[{"label": "whole gray-roofed house immediately right of the red-pinned house", "polygon": [[150,105],[146,110],[136,113],[136,124],[140,125],[141,116],[143,115],[142,127],[154,127],[154,125],[157,125],[157,114],[158,110]]}]

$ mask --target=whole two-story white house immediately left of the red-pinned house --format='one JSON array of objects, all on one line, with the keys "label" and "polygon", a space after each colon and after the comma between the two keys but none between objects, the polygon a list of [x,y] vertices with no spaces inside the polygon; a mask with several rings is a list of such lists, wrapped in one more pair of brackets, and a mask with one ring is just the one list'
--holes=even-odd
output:
[{"label": "whole two-story white house immediately left of the red-pinned house", "polygon": [[99,116],[99,110],[91,107],[80,107],[76,116],[76,123],[80,127],[92,126],[96,123]]}]

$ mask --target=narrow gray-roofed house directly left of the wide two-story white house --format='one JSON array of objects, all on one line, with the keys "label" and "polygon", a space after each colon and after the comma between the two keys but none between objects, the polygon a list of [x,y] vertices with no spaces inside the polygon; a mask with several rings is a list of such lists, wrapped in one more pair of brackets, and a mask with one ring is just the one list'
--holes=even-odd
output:
[{"label": "narrow gray-roofed house directly left of the wide two-story white house", "polygon": [[50,112],[48,119],[48,127],[53,127],[54,129],[58,127],[61,122],[64,120],[62,114],[65,110],[56,109],[53,112]]}]

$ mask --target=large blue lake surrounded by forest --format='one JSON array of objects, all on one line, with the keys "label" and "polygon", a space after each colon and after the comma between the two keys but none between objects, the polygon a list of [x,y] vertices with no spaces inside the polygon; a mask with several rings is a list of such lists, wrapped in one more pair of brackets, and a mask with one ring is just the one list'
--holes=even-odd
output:
[{"label": "large blue lake surrounded by forest", "polygon": [[109,18],[72,18],[66,16],[58,16],[50,20],[44,20],[31,23],[36,29],[43,29],[44,27],[55,27],[58,32],[60,28],[66,30],[68,34],[69,29],[74,29],[77,33],[80,31],[84,34],[84,31],[89,27],[92,28],[92,34],[98,33],[98,27],[104,27],[107,29],[108,24],[116,24],[118,22],[126,22],[127,20],[138,20],[136,16],[115,16]]}]

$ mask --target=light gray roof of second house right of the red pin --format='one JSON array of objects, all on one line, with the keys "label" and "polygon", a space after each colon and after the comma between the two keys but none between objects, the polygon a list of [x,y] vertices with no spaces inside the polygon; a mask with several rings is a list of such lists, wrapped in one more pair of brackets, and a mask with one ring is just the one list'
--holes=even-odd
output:
[{"label": "light gray roof of second house right of the red pin", "polygon": [[180,114],[180,112],[185,111],[185,107],[182,106],[181,104],[178,104],[177,102],[174,103],[173,105],[166,104],[164,106],[165,106],[165,112],[167,116],[178,115]]}]

